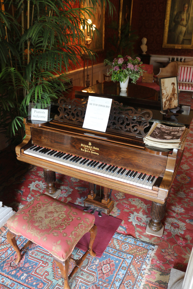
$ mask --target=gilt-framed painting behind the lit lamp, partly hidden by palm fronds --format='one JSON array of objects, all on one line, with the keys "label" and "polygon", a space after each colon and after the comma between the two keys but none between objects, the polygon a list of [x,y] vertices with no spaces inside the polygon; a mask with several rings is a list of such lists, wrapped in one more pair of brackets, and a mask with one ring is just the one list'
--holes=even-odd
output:
[{"label": "gilt-framed painting behind the lit lamp, partly hidden by palm fronds", "polygon": [[91,46],[89,49],[92,49],[94,51],[104,51],[104,14],[105,14],[105,5],[103,7],[100,3],[96,4],[96,8],[93,8],[92,3],[88,3],[83,5],[81,4],[80,8],[88,8],[94,16],[89,16],[87,13],[84,14],[86,19],[91,19],[92,24],[96,26],[96,28],[99,31],[100,35],[94,34],[94,37],[91,42]]}]

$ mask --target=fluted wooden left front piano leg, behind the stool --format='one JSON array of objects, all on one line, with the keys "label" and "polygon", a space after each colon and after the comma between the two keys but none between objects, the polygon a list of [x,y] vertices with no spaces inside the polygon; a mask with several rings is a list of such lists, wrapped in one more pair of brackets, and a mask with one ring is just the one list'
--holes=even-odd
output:
[{"label": "fluted wooden left front piano leg, behind the stool", "polygon": [[47,195],[56,198],[60,194],[61,190],[57,189],[54,182],[56,181],[56,173],[47,169],[44,170],[44,179],[47,183],[46,193]]}]

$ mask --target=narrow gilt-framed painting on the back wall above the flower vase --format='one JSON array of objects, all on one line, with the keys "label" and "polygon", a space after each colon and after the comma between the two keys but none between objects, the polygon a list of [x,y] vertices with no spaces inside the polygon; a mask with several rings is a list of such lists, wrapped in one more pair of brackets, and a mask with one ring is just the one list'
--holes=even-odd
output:
[{"label": "narrow gilt-framed painting on the back wall above the flower vase", "polygon": [[131,26],[131,16],[133,9],[133,0],[121,0],[119,12],[119,37],[121,34],[121,26],[129,23]]}]

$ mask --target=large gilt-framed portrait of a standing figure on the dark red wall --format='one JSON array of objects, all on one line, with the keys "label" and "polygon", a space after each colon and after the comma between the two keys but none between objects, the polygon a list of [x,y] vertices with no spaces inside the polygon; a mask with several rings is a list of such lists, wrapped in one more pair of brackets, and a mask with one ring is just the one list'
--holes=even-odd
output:
[{"label": "large gilt-framed portrait of a standing figure on the dark red wall", "polygon": [[163,47],[193,49],[193,0],[167,0]]}]

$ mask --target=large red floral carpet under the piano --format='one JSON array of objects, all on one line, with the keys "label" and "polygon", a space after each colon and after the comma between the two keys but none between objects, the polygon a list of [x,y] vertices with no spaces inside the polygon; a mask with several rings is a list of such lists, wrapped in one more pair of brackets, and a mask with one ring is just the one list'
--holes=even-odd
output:
[{"label": "large red floral carpet under the piano", "polygon": [[[179,99],[180,103],[193,107],[191,92],[180,92]],[[111,194],[115,202],[111,215],[123,220],[117,232],[137,238],[141,242],[158,245],[146,273],[143,289],[166,289],[171,268],[185,272],[190,258],[193,245],[193,123],[190,129],[184,156],[174,179],[167,201],[166,214],[162,220],[165,226],[162,237],[146,234],[146,226],[150,220],[150,201],[115,190]],[[46,184],[42,168],[19,165],[19,162],[16,163],[13,151],[5,150],[0,157],[0,200],[4,205],[18,210],[34,196],[45,192]],[[9,174],[9,177],[6,174]],[[56,186],[62,190],[58,196],[59,200],[83,205],[83,200],[89,191],[87,182],[58,173],[56,179]],[[125,284],[122,289],[132,288],[129,286]],[[80,286],[80,289],[84,289],[83,287]],[[98,289],[98,287],[95,284],[91,289]]]}]

